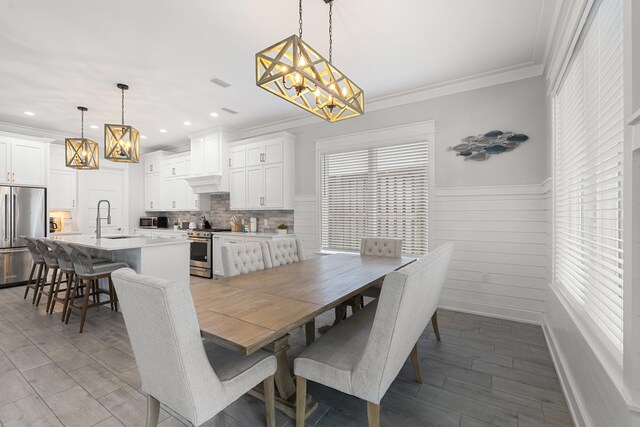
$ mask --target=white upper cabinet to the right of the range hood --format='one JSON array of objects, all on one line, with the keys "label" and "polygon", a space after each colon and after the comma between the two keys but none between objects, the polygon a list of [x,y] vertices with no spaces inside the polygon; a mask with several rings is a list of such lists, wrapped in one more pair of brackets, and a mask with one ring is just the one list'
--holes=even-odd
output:
[{"label": "white upper cabinet to the right of the range hood", "polygon": [[231,209],[293,209],[294,150],[287,132],[231,144]]}]

